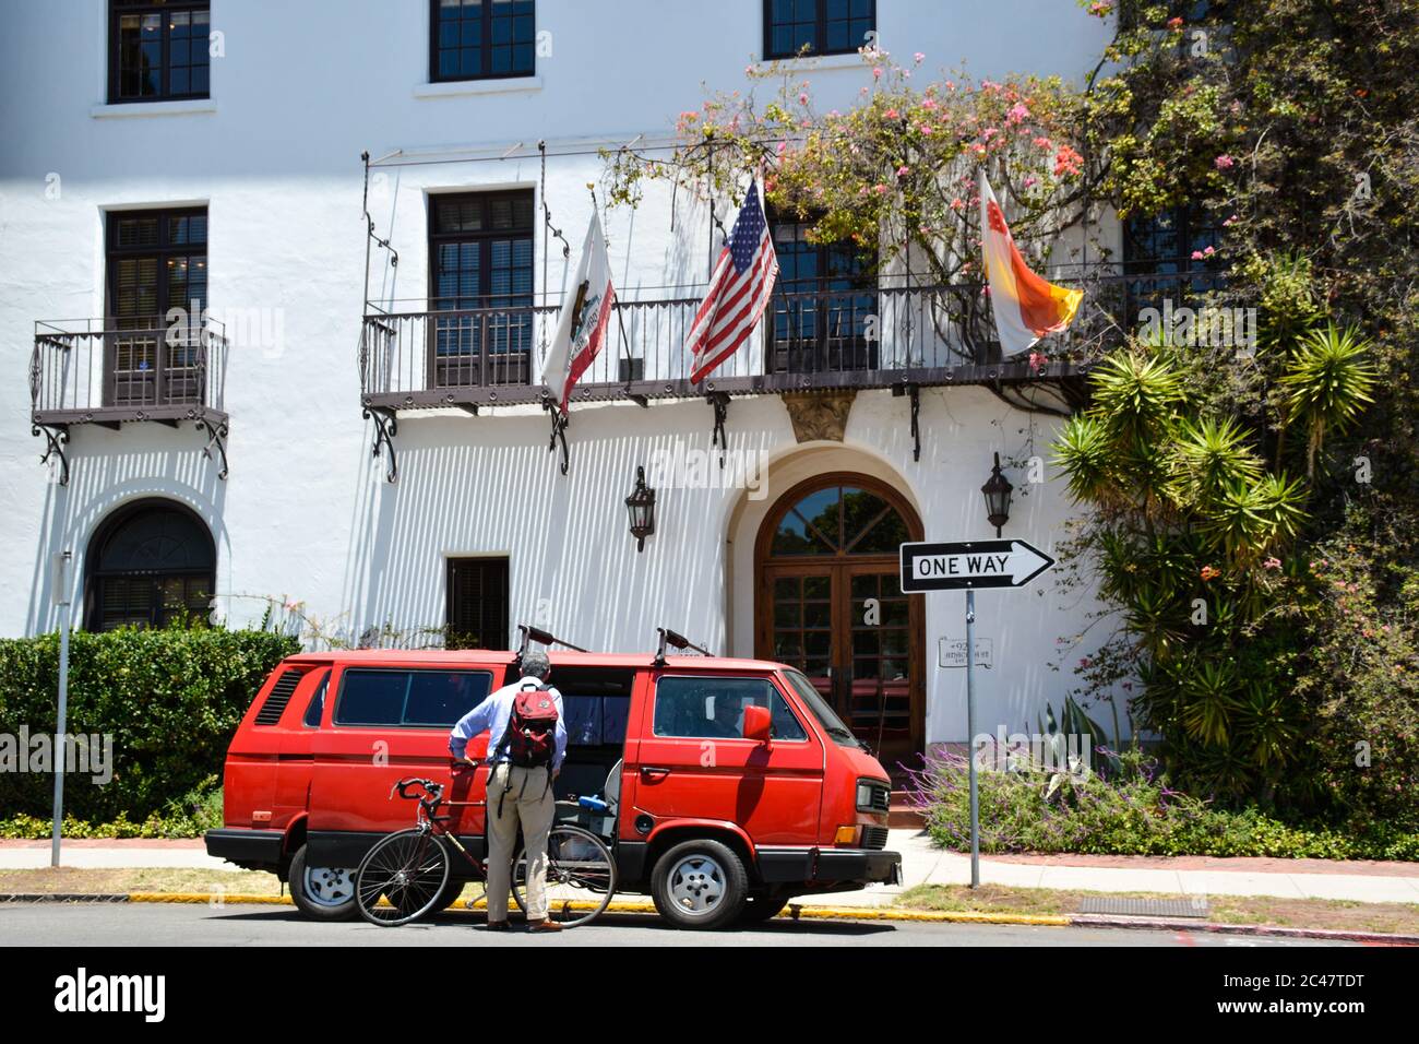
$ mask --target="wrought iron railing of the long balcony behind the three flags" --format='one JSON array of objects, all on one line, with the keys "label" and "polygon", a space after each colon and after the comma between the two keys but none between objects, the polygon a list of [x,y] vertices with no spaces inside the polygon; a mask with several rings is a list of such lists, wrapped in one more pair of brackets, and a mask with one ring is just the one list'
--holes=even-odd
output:
[{"label": "wrought iron railing of the long balcony behind the three flags", "polygon": [[[1051,338],[1087,361],[1137,325],[1141,294],[1193,298],[1203,273],[1120,276],[1095,267],[1078,318]],[[700,300],[617,301],[607,342],[582,375],[575,402],[702,398],[812,388],[893,388],[1026,381],[1076,372],[1000,359],[979,286],[790,290],[776,293],[749,344],[701,385],[690,384],[685,334]],[[366,409],[541,402],[542,365],[558,305],[430,308],[427,300],[368,305],[359,348]]]}]

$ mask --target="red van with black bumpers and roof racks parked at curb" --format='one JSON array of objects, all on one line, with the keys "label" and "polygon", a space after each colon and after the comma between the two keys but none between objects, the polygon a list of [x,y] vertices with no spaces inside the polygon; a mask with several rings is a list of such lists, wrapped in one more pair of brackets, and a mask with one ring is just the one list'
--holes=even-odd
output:
[{"label": "red van with black bumpers and roof racks parked at curb", "polygon": [[[664,652],[549,659],[569,733],[556,795],[613,803],[602,827],[619,893],[648,893],[677,926],[718,928],[772,918],[792,896],[900,882],[901,857],[885,851],[888,776],[797,670]],[[352,868],[413,822],[412,805],[390,800],[396,780],[429,777],[447,781],[454,801],[482,800],[488,768],[454,766],[448,732],[518,679],[518,660],[495,651],[288,658],[227,751],[224,827],[207,832],[207,852],[277,874],[311,916],[353,916]],[[485,736],[468,744],[470,757],[485,754]],[[450,811],[481,857],[482,808]],[[684,875],[674,871],[688,861],[718,878],[708,910],[677,895]],[[450,881],[446,905],[464,883]]]}]

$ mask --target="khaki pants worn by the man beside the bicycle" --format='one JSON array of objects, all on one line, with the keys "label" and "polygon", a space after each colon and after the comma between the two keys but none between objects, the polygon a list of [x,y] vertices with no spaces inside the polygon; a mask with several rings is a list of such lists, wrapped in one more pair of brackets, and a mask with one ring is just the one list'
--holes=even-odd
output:
[{"label": "khaki pants worn by the man beside the bicycle", "polygon": [[546,919],[546,835],[556,811],[549,771],[504,761],[494,766],[488,777],[488,920],[508,919],[518,824],[528,849],[526,892],[522,896],[528,905],[526,916],[529,922]]}]

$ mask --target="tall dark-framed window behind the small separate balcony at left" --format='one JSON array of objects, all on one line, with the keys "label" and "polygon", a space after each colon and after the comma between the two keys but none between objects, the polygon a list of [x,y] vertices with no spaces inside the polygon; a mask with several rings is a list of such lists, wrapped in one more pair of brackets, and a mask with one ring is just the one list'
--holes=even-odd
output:
[{"label": "tall dark-framed window behind the small separate balcony at left", "polygon": [[[111,210],[105,249],[105,405],[201,402],[207,209]],[[186,322],[169,318],[173,308]]]}]

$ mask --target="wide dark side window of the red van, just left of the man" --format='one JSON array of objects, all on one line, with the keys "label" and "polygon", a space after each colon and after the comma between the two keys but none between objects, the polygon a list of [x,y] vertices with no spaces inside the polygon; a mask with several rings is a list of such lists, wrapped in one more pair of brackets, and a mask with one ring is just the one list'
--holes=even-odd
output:
[{"label": "wide dark side window of the red van, just left of the man", "polygon": [[487,670],[348,669],[335,724],[453,727],[492,689]]}]

